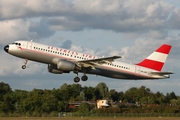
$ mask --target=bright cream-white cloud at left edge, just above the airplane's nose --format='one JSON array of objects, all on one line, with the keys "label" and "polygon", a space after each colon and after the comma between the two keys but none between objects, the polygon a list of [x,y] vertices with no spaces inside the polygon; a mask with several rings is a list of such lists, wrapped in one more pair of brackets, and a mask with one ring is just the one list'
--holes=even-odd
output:
[{"label": "bright cream-white cloud at left edge, just above the airplane's nose", "polygon": [[50,30],[46,22],[46,19],[41,19],[40,22],[26,19],[0,21],[0,44],[52,36],[55,31]]}]

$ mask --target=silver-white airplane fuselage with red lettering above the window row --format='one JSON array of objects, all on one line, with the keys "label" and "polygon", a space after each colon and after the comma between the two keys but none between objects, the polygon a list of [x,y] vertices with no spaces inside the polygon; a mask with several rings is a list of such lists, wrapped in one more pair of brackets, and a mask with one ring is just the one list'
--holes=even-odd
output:
[{"label": "silver-white airplane fuselage with red lettering above the window row", "polygon": [[[97,56],[83,54],[64,48],[43,45],[32,41],[16,41],[15,43],[20,43],[20,45],[9,44],[9,54],[23,59],[28,59],[45,64],[54,64],[54,58],[66,59],[72,62],[99,58]],[[105,64],[97,64],[95,65],[95,69],[86,70],[87,74],[95,74],[117,79],[138,80],[161,79],[169,77],[167,75],[152,75],[150,74],[150,72],[156,71],[138,65],[127,64],[119,61]]]}]

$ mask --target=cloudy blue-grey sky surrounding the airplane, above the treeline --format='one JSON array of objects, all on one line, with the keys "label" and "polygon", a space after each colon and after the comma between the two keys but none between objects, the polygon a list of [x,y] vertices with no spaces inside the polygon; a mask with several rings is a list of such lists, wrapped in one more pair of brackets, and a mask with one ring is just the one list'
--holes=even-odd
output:
[{"label": "cloudy blue-grey sky surrounding the airplane, above the treeline", "polygon": [[[4,51],[16,40],[33,40],[97,56],[122,56],[138,63],[162,44],[172,45],[163,71],[175,74],[163,80],[118,80],[88,75],[82,86],[104,82],[109,89],[126,91],[146,86],[152,92],[180,95],[179,0],[0,0],[0,82],[13,90],[53,89],[75,84],[74,73],[51,74],[46,64],[28,61]],[[80,76],[82,74],[79,74]]]}]

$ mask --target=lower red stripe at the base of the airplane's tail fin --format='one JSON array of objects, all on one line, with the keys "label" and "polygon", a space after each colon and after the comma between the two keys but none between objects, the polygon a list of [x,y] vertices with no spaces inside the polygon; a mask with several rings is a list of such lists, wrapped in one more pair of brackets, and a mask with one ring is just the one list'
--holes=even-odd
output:
[{"label": "lower red stripe at the base of the airplane's tail fin", "polygon": [[142,62],[138,63],[137,65],[143,66],[143,67],[146,67],[146,68],[150,68],[150,69],[153,69],[153,70],[161,71],[164,63],[154,61],[154,60],[145,59]]}]

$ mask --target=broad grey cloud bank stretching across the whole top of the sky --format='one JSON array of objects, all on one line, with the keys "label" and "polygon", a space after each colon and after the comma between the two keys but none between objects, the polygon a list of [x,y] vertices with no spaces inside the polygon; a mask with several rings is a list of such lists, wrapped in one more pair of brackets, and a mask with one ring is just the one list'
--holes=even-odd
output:
[{"label": "broad grey cloud bank stretching across the whole top of the sky", "polygon": [[34,27],[30,28],[36,29],[39,36],[44,33],[53,34],[49,29],[40,31],[39,26],[52,30],[103,29],[116,32],[147,32],[163,31],[171,24],[171,29],[176,29],[174,24],[178,23],[177,16],[180,13],[178,8],[175,9],[174,5],[163,0],[2,0],[0,4],[3,5],[0,9],[2,20],[41,16],[40,24],[34,23]]}]

